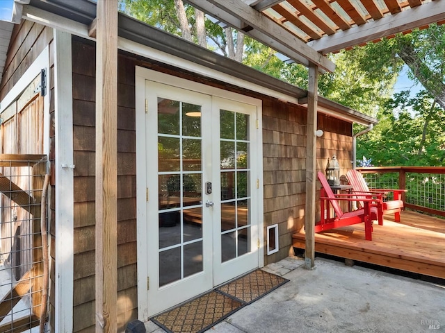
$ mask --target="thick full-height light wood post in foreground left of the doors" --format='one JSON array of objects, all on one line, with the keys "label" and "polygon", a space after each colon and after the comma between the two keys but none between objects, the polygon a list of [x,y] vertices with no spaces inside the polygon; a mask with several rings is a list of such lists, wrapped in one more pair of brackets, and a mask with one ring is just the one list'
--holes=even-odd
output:
[{"label": "thick full-height light wood post in foreground left of the doors", "polygon": [[96,332],[117,332],[118,0],[97,1]]}]

